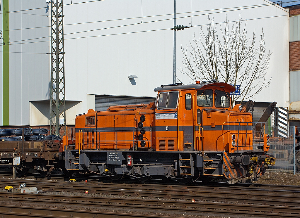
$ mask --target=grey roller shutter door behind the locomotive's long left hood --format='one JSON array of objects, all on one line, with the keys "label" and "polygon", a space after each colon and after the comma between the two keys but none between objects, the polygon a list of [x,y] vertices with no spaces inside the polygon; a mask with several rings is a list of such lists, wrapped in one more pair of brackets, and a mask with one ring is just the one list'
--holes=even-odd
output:
[{"label": "grey roller shutter door behind the locomotive's long left hood", "polygon": [[105,111],[110,106],[148,104],[155,102],[155,97],[135,97],[135,96],[115,96],[115,95],[95,95],[95,110]]}]

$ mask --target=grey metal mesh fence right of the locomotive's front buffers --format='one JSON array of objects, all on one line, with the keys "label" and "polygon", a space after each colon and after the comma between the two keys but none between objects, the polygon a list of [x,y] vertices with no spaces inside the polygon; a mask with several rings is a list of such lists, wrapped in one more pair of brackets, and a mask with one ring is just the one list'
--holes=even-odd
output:
[{"label": "grey metal mesh fence right of the locomotive's front buffers", "polygon": [[[300,127],[271,127],[270,149],[268,155],[274,155],[276,162],[269,171],[300,173]],[[295,155],[294,155],[295,154]]]}]

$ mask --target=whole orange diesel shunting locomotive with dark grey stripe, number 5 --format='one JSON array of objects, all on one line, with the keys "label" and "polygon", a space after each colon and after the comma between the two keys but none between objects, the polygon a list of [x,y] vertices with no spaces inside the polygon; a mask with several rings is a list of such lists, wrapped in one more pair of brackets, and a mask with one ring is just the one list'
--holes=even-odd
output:
[{"label": "whole orange diesel shunting locomotive with dark grey stripe, number 5", "polygon": [[64,141],[65,171],[124,175],[256,180],[275,158],[265,153],[269,135],[240,104],[231,109],[227,83],[163,85],[155,103],[88,110],[76,116],[76,140]]}]

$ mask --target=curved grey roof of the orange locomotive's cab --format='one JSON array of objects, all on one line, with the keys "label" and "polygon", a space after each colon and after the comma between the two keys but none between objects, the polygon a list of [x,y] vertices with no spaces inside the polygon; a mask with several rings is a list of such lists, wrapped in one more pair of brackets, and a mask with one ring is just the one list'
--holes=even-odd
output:
[{"label": "curved grey roof of the orange locomotive's cab", "polygon": [[234,92],[235,88],[228,83],[200,83],[200,84],[190,84],[190,85],[182,85],[182,83],[171,84],[171,85],[162,85],[161,87],[157,87],[154,89],[154,92],[159,91],[170,91],[170,90],[182,90],[182,89],[201,89],[203,87],[220,87],[228,89],[230,92]]}]

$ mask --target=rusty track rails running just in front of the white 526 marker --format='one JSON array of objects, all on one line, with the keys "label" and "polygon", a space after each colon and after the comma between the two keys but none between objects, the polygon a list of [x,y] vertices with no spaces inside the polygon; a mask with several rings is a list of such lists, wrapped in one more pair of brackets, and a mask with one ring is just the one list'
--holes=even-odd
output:
[{"label": "rusty track rails running just in front of the white 526 marker", "polygon": [[[1,193],[2,194],[2,193]],[[105,208],[120,208],[123,210],[137,209],[137,210],[151,210],[158,212],[184,212],[199,214],[202,212],[214,214],[241,214],[247,212],[252,216],[257,217],[300,217],[299,207],[286,206],[271,206],[265,205],[248,205],[248,204],[228,204],[215,202],[186,202],[186,201],[172,201],[172,200],[149,200],[149,199],[128,199],[128,198],[103,198],[103,197],[80,197],[68,195],[36,195],[36,194],[10,194],[11,198],[4,198],[1,201],[17,201],[26,203],[37,203],[42,205],[62,203],[64,206],[87,206],[87,207],[105,207]],[[14,198],[12,198],[12,196]],[[24,197],[23,199],[17,197]],[[29,200],[31,199],[31,200]],[[96,204],[95,204],[96,203]],[[287,214],[288,213],[288,214]],[[249,214],[249,215],[250,215]]]}]

